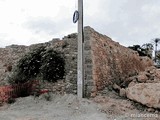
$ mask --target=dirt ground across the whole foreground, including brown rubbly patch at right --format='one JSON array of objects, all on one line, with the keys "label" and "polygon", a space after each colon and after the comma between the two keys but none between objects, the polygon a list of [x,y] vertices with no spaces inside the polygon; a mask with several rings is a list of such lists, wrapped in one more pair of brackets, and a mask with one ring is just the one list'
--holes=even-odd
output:
[{"label": "dirt ground across the whole foreground, including brown rubbly patch at right", "polygon": [[50,101],[46,100],[46,94],[18,98],[0,107],[0,120],[160,120],[159,111],[147,112],[113,93],[94,99],[80,99],[71,94],[50,96]]}]

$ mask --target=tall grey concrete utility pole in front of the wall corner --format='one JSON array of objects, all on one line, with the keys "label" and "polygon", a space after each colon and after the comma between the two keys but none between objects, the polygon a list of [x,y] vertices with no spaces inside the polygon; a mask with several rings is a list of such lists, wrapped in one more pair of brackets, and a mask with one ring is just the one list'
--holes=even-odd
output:
[{"label": "tall grey concrete utility pole in front of the wall corner", "polygon": [[77,95],[84,97],[84,56],[83,56],[83,0],[78,0],[78,68],[77,68]]}]

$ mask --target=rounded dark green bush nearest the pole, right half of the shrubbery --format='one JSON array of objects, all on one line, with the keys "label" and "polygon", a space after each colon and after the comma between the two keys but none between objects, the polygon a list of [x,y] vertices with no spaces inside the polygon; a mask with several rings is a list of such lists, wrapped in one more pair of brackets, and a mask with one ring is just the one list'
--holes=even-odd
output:
[{"label": "rounded dark green bush nearest the pole, right half of the shrubbery", "polygon": [[41,75],[43,80],[56,82],[64,76],[64,59],[53,49],[48,49],[43,53]]}]

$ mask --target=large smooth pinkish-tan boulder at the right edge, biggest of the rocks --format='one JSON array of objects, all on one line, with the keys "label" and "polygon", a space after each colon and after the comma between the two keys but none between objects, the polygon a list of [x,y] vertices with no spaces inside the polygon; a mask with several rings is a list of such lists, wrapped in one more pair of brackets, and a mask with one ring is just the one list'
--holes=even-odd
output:
[{"label": "large smooth pinkish-tan boulder at the right edge, biggest of the rocks", "polygon": [[160,108],[160,83],[139,83],[126,89],[127,98],[153,108]]}]

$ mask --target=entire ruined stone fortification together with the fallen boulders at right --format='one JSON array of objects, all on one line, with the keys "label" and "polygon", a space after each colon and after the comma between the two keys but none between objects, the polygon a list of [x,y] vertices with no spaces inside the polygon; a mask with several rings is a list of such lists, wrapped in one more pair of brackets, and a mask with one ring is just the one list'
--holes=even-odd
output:
[{"label": "entire ruined stone fortification together with the fallen boulders at right", "polygon": [[[77,93],[77,34],[31,46],[11,45],[0,48],[0,80],[12,72],[17,60],[33,47],[45,45],[64,53],[65,91]],[[160,71],[148,57],[114,42],[91,27],[84,28],[85,96],[95,97],[104,88],[116,90],[120,96],[148,107],[160,108]],[[150,92],[147,92],[150,91]],[[147,93],[147,94],[146,94]],[[144,96],[144,97],[140,97]],[[149,99],[150,98],[150,99]]]}]

